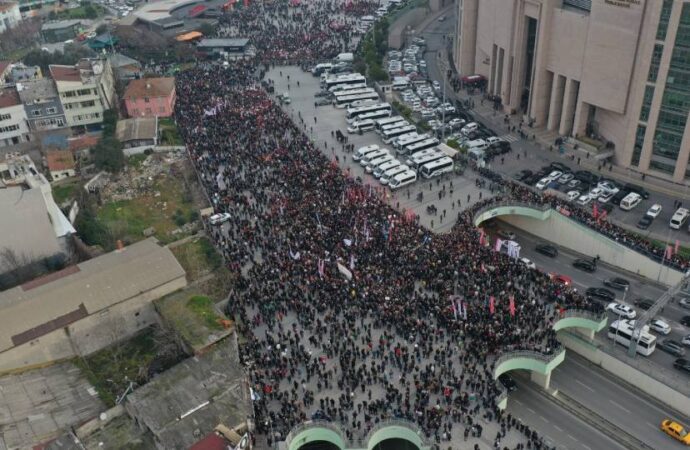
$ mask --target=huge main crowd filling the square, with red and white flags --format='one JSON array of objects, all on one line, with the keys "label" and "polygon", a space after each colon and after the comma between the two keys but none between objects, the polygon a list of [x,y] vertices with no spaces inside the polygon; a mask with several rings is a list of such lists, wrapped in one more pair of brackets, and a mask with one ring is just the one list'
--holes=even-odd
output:
[{"label": "huge main crowd filling the square, with red and white flags", "polygon": [[232,215],[210,233],[238,277],[230,312],[247,338],[258,430],[272,440],[326,417],[359,439],[399,417],[440,445],[481,435],[482,419],[497,421],[495,445],[512,428],[544,448],[498,410],[495,358],[558,351],[559,314],[599,305],[495,251],[471,211],[436,236],[386,205],[256,73],[249,62],[182,72],[176,121],[216,210]]}]

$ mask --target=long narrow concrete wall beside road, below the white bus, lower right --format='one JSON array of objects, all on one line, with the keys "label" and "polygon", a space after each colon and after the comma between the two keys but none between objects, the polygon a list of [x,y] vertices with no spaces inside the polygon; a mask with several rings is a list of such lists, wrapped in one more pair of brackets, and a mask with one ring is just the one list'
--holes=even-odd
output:
[{"label": "long narrow concrete wall beside road, below the white bus, lower right", "polygon": [[[568,332],[559,332],[558,339],[568,350],[588,359],[607,372],[611,372],[618,378],[630,383],[642,392],[667,404],[671,408],[674,408],[686,417],[690,417],[690,401],[688,401],[688,397],[682,393],[655,380],[635,367],[626,364],[624,361],[602,352],[594,345],[585,342],[576,335]],[[638,358],[644,357],[638,356]]]}]

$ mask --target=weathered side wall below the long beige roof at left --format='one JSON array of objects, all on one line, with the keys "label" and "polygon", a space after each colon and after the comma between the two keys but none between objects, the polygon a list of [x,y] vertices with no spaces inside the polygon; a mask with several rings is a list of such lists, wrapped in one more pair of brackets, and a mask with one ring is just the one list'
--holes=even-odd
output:
[{"label": "weathered side wall below the long beige roof at left", "polygon": [[85,356],[127,338],[158,321],[153,300],[187,285],[184,277],[143,292],[65,328],[0,353],[0,373]]}]

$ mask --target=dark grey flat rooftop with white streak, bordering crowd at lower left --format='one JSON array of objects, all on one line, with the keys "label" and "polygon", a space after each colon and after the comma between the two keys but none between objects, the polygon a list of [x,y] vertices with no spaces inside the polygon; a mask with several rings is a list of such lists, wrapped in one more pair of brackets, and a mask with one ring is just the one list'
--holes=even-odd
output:
[{"label": "dark grey flat rooftop with white streak, bordering crowd at lower left", "polygon": [[219,424],[234,428],[251,417],[235,337],[186,359],[127,397],[127,409],[163,448],[190,448]]}]

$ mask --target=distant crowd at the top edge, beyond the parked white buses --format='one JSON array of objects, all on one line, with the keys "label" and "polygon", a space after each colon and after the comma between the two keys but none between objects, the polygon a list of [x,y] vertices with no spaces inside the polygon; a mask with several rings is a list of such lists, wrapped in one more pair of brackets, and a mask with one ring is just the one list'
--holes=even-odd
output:
[{"label": "distant crowd at the top edge, beyond the parked white buses", "polygon": [[264,61],[316,60],[348,51],[357,16],[377,2],[250,2],[221,18],[219,34],[248,38]]}]

